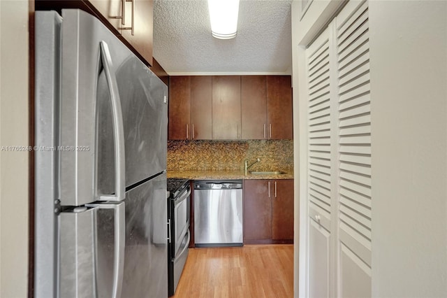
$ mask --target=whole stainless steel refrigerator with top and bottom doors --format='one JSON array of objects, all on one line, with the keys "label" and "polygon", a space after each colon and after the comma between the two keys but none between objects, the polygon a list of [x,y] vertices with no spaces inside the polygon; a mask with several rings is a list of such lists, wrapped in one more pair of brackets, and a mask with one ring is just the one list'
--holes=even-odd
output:
[{"label": "whole stainless steel refrigerator with top and bottom doors", "polygon": [[81,10],[35,59],[35,297],[168,297],[168,88]]}]

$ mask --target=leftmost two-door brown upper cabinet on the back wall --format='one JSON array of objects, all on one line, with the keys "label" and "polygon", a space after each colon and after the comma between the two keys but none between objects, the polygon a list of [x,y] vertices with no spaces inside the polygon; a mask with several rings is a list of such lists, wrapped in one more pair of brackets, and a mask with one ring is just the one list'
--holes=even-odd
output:
[{"label": "leftmost two-door brown upper cabinet on the back wall", "polygon": [[212,139],[211,97],[210,76],[171,76],[168,138]]}]

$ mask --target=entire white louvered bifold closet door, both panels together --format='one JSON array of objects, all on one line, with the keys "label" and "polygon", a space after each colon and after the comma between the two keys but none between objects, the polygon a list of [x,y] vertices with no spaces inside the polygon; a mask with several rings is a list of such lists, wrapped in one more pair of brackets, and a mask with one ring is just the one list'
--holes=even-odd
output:
[{"label": "entire white louvered bifold closet door, both panels together", "polygon": [[367,1],[349,1],[306,57],[309,297],[371,297]]}]

